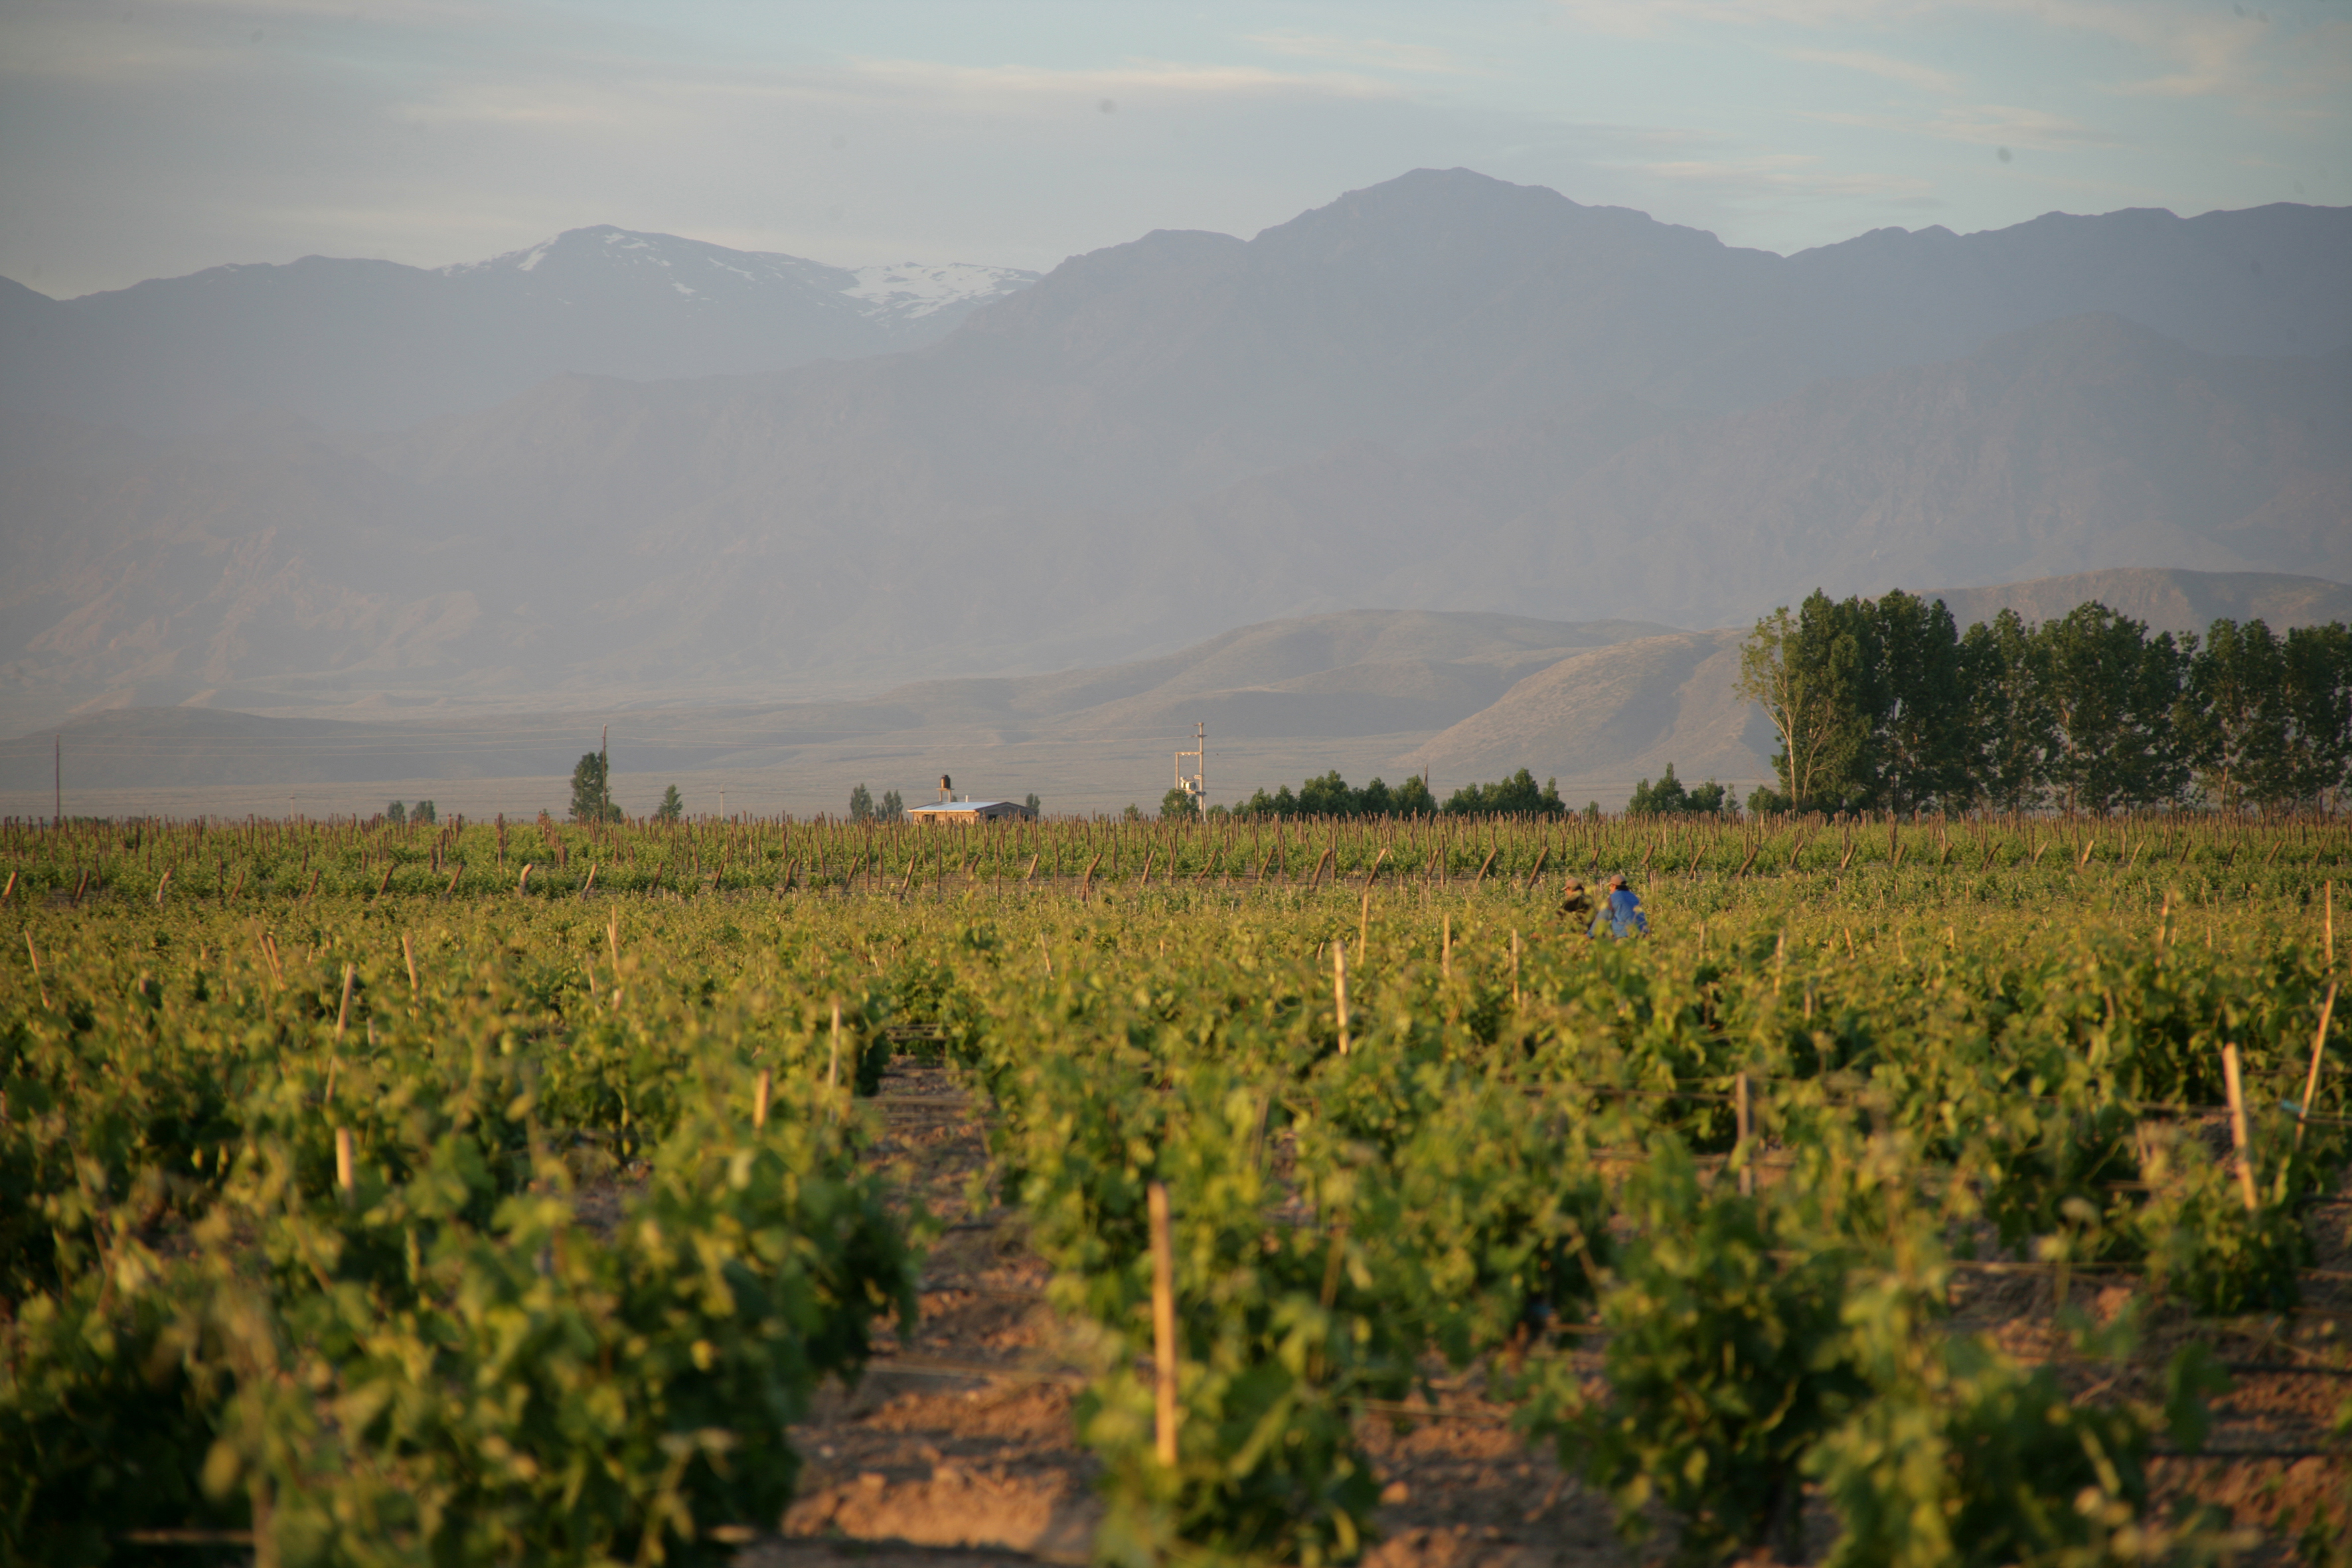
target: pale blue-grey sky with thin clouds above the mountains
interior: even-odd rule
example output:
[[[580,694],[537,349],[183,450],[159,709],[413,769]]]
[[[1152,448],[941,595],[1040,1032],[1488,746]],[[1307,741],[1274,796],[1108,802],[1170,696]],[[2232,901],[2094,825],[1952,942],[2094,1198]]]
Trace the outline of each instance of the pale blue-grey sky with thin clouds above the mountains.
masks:
[[[1795,252],[2352,205],[2352,0],[0,0],[0,275],[1051,268],[1470,167]]]

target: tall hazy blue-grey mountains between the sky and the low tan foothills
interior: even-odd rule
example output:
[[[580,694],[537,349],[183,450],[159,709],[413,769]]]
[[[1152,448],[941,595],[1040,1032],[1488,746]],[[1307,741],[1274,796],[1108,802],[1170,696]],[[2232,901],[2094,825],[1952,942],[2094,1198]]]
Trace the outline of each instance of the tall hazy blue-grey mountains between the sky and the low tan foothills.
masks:
[[[938,280],[929,315],[668,237],[541,252],[390,268],[372,296],[336,289],[388,263],[223,268],[96,296],[153,301],[108,306],[103,353],[9,355],[0,729],[771,705],[1367,604],[1665,635],[1813,585],[2352,578],[2347,209],[2051,214],[1783,259],[1416,172],[1247,242],[1152,233],[1018,292]],[[367,303],[402,289],[428,303]],[[463,289],[489,303],[447,303]],[[52,343],[19,303],[7,341]],[[691,327],[762,310],[767,339]],[[539,348],[468,360],[468,334]],[[835,357],[623,378],[750,371],[788,339]],[[590,348],[614,374],[480,409],[480,364]],[[136,355],[176,369],[120,371]],[[174,409],[207,397],[238,418],[191,433]],[[1644,691],[1712,656],[1653,651]],[[1519,726],[1496,733],[1477,745]]]

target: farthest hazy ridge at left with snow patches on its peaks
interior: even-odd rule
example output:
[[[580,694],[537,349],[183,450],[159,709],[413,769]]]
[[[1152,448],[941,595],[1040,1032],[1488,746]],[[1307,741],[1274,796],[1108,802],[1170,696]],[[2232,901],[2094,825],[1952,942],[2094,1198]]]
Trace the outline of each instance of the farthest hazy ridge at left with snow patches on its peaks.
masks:
[[[771,371],[927,343],[1035,273],[835,268],[677,235],[574,228],[487,261],[303,256],[52,301],[0,289],[0,407],[155,435],[301,414],[390,430],[564,371]]]

